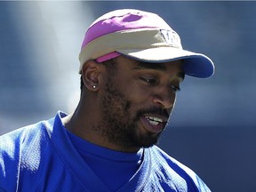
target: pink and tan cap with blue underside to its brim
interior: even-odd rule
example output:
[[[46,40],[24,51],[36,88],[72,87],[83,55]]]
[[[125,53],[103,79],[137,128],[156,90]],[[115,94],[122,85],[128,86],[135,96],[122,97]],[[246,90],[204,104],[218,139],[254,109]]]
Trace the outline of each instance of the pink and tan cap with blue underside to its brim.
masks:
[[[183,50],[180,36],[152,12],[116,10],[95,20],[84,36],[79,72],[87,60],[102,62],[119,55],[152,63],[183,60],[188,76],[205,78],[214,73],[212,60]]]

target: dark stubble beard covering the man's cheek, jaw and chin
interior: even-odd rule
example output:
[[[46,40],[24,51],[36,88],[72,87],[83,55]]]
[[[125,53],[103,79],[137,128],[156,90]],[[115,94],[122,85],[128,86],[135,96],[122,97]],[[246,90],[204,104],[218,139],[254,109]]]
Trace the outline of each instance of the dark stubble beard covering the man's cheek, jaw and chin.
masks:
[[[97,126],[100,135],[120,148],[149,148],[157,143],[160,133],[141,132],[140,116],[146,110],[131,111],[132,101],[119,91],[111,79],[105,86],[101,102],[102,121]]]

